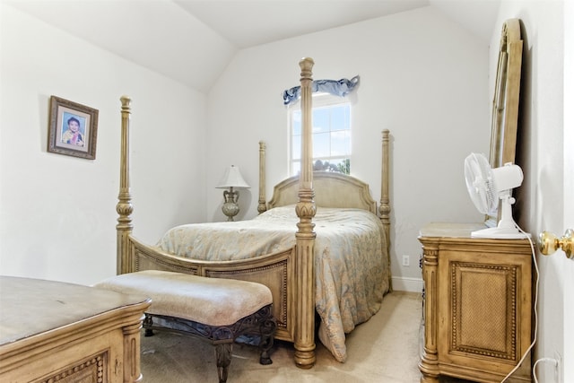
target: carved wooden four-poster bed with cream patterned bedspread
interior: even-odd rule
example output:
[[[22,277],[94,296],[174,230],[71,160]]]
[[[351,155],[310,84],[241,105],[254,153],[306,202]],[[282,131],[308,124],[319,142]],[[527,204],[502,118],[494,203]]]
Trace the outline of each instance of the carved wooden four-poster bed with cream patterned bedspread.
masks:
[[[313,65],[313,60],[310,58],[300,60],[303,132],[300,176],[287,178],[277,184],[274,187],[273,197],[266,202],[265,144],[260,143],[257,206],[260,215],[256,219],[247,222],[206,223],[203,226],[208,231],[202,234],[196,232],[189,234],[187,231],[196,230],[196,226],[201,226],[200,224],[183,225],[185,228],[182,226],[172,229],[154,246],[143,244],[132,235],[133,206],[129,186],[131,100],[126,96],[121,99],[117,273],[150,269],[168,270],[265,284],[273,294],[274,317],[277,320],[275,338],[294,344],[294,359],[300,368],[310,368],[315,363],[316,309],[321,318],[319,337],[322,343],[326,344],[335,359],[344,361],[346,358],[344,333],[374,315],[380,307],[382,296],[392,288],[389,257],[388,131],[383,131],[382,137],[381,200],[378,209],[376,201],[370,195],[369,185],[360,179],[340,173],[313,172],[311,142]],[[296,216],[292,214],[295,221],[291,220],[291,217],[285,218],[284,225],[290,225],[289,239],[292,239],[292,243],[289,242],[287,247],[272,244],[266,246],[265,250],[253,251],[247,256],[234,255],[228,259],[209,258],[211,256],[201,258],[184,254],[185,251],[194,252],[197,248],[204,247],[208,238],[209,240],[220,238],[221,235],[213,234],[214,226],[222,226],[226,231],[236,231],[236,235],[240,229],[239,239],[230,239],[235,240],[236,242],[232,243],[236,245],[228,248],[232,248],[233,251],[235,248],[238,250],[244,248],[243,242],[239,245],[237,241],[247,237],[266,237],[265,233],[248,231],[245,225],[250,222],[260,223],[271,216],[271,220],[275,222],[263,222],[268,226],[267,229],[274,231],[274,224],[278,220],[283,220],[282,214],[286,210],[296,213]],[[321,221],[325,215],[328,216],[326,219],[330,220],[333,214],[336,216],[335,221]],[[355,221],[359,222],[358,229],[352,228]],[[365,229],[367,227],[369,229]],[[239,229],[235,230],[236,228]],[[346,230],[350,231],[347,235],[349,242],[343,244],[331,242],[334,239],[327,239],[328,235],[323,234],[329,231],[329,228],[334,228],[332,237],[336,239],[344,238],[345,235],[339,230],[347,228]],[[248,236],[247,233],[251,235]],[[189,239],[197,235],[196,239]],[[355,238],[354,242],[351,238]],[[175,242],[172,242],[172,239]],[[177,242],[180,239],[189,239],[192,242]],[[370,246],[374,250],[363,250],[363,245]],[[209,246],[212,246],[211,243]],[[344,254],[340,256],[337,251],[345,247]],[[222,254],[221,248],[215,250],[215,253],[216,257],[219,257]],[[346,284],[342,286],[342,283]],[[353,296],[345,296],[345,293],[349,294],[346,291],[351,291]]]

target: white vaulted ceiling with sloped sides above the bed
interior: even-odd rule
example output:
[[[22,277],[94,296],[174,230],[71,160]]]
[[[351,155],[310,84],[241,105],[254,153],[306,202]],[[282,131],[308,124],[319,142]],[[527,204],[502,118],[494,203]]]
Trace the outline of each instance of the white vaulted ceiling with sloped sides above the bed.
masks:
[[[491,38],[500,0],[6,0],[80,39],[198,91],[235,53],[424,6]]]

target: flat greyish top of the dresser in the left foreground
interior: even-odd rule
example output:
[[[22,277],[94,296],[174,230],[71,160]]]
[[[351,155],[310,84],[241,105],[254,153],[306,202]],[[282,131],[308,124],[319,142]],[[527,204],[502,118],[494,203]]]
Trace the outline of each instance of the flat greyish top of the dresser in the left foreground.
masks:
[[[146,297],[73,283],[0,275],[0,345],[114,309],[147,305]]]

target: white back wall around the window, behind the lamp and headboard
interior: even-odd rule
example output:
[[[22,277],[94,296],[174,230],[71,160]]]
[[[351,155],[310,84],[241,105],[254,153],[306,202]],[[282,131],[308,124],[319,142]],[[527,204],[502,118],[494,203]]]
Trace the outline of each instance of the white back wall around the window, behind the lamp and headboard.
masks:
[[[422,225],[483,218],[466,192],[463,164],[490,145],[487,42],[426,7],[240,51],[209,93],[207,133],[207,185],[235,164],[252,186],[241,196],[240,218],[257,214],[259,140],[267,143],[267,199],[287,176],[282,92],[299,84],[301,57],[315,60],[317,80],[361,75],[349,97],[351,172],[369,182],[377,201],[381,131],[390,129],[392,273],[397,289],[420,291]],[[223,220],[221,204],[208,187],[208,219]],[[402,255],[411,256],[410,267]]]

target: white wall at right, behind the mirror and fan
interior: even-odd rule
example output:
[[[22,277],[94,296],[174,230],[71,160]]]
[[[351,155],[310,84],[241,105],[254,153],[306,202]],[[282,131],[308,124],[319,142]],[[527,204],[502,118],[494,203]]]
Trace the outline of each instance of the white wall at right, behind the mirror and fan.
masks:
[[[518,223],[534,237],[540,231],[553,231],[562,235],[565,226],[572,227],[566,204],[571,206],[572,191],[567,187],[565,170],[572,169],[567,165],[572,156],[571,141],[564,125],[564,71],[571,66],[564,66],[564,28],[572,22],[563,16],[564,3],[561,1],[517,1],[502,2],[497,30],[493,32],[492,44],[500,38],[502,22],[509,18],[519,18],[523,24],[524,58],[521,100],[521,139],[517,147],[517,163],[525,172],[525,182],[519,188],[517,204]],[[570,44],[572,43],[570,37]],[[571,65],[571,63],[570,63]],[[570,85],[571,87],[571,85]],[[571,92],[571,89],[570,89]],[[568,107],[570,108],[570,105]],[[571,121],[570,121],[571,131]],[[571,135],[571,133],[570,133]],[[564,140],[564,141],[563,141]],[[571,184],[570,184],[571,185]],[[569,221],[570,220],[570,221]],[[561,355],[561,374],[563,382],[574,381],[572,365],[574,343],[567,341],[565,327],[572,323],[565,309],[571,307],[574,287],[574,262],[558,252],[551,257],[536,257],[540,269],[538,296],[538,336],[534,360],[555,358]],[[570,333],[571,334],[571,333]],[[564,359],[570,356],[570,361]],[[543,362],[536,368],[538,381],[554,382],[554,367]],[[566,375],[568,373],[568,375]]]

